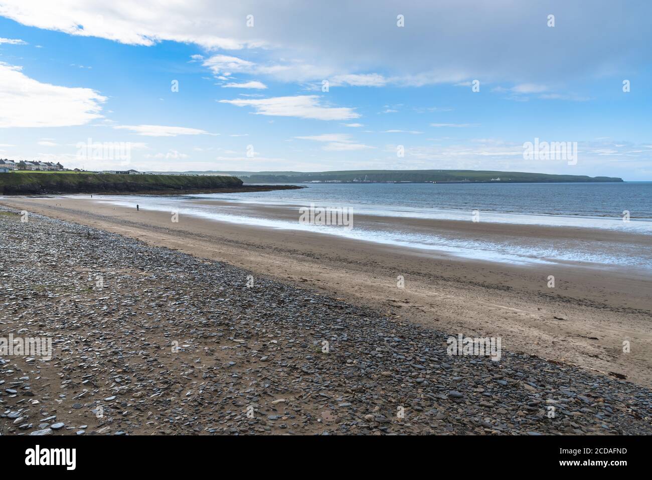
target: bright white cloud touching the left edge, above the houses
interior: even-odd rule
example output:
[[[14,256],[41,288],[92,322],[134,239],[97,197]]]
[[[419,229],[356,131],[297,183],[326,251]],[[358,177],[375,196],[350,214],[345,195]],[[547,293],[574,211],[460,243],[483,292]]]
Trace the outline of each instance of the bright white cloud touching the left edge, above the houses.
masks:
[[[95,90],[41,83],[21,70],[0,62],[0,128],[70,127],[102,117],[106,97]]]

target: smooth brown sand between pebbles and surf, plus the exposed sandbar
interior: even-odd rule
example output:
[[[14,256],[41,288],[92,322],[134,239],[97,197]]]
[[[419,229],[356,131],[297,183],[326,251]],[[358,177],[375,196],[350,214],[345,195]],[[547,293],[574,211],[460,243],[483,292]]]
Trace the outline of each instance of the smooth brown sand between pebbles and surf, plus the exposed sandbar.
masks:
[[[652,386],[652,278],[632,267],[467,260],[295,230],[274,230],[82,198],[2,198],[1,205],[77,222],[372,307],[400,322],[456,335],[501,337],[504,350]],[[146,205],[145,205],[146,207]],[[237,207],[233,207],[237,208]],[[265,215],[282,211],[265,208]],[[357,217],[358,222],[387,222]],[[650,248],[649,235],[447,220],[402,219],[418,232]],[[397,277],[404,277],[398,288]],[[548,288],[548,276],[556,285]],[[623,342],[630,352],[623,352]]]

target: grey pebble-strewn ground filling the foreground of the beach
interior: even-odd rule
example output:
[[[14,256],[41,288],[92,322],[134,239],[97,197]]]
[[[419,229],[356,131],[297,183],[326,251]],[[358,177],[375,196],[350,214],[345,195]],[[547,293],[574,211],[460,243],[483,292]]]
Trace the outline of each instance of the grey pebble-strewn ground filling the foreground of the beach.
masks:
[[[0,213],[18,259],[0,258],[3,332],[54,339],[49,361],[0,363],[3,434],[652,433],[652,391],[634,383],[505,344],[497,361],[451,353],[444,325]]]

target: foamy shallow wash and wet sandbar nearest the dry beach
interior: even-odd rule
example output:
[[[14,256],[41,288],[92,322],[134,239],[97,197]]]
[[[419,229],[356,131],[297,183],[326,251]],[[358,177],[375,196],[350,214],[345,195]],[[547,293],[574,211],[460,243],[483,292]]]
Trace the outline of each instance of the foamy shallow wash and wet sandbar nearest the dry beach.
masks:
[[[574,219],[576,224],[565,225],[563,220],[560,223],[559,220],[551,221],[544,217],[517,218],[518,215],[509,215],[497,218],[484,213],[482,222],[471,222],[470,218],[422,218],[401,216],[400,212],[395,212],[393,216],[355,213],[349,217],[351,228],[344,228],[300,224],[297,222],[297,207],[301,205],[293,203],[248,203],[243,202],[243,196],[235,201],[179,198],[169,203],[165,200],[153,199],[148,202],[143,198],[123,202],[119,198],[94,199],[99,205],[128,208],[140,203],[140,207],[147,211],[175,210],[185,217],[190,215],[273,231],[311,232],[319,238],[338,237],[389,245],[440,258],[467,258],[514,265],[564,263],[602,269],[627,268],[632,275],[634,272],[652,275],[652,223],[649,222],[632,222],[623,230],[619,226],[621,222],[611,219],[580,219],[579,222]],[[361,209],[357,208],[356,211]],[[536,218],[549,223],[536,223]],[[596,221],[602,223],[593,226]]]

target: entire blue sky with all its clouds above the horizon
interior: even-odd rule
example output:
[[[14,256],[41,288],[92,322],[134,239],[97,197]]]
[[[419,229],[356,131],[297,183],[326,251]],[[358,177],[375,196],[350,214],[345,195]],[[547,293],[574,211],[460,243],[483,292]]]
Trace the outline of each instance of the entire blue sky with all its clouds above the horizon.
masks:
[[[647,0],[0,0],[0,158],[652,181],[650,18]],[[524,158],[537,138],[576,162]]]

